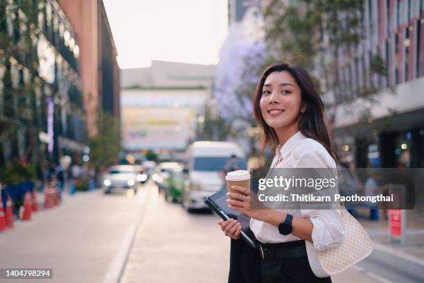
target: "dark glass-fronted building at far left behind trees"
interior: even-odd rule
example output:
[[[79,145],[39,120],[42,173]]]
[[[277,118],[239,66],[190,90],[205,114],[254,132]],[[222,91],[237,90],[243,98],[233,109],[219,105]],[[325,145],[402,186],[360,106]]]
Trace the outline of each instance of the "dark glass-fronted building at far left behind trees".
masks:
[[[0,4],[0,166],[87,151],[80,46],[54,0]]]

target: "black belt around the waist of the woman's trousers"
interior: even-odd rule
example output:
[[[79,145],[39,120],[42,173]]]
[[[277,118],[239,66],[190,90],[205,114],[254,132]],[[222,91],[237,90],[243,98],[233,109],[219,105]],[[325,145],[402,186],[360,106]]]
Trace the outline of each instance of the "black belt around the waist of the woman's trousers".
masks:
[[[294,259],[308,256],[303,240],[286,243],[262,243],[259,252],[262,259]]]

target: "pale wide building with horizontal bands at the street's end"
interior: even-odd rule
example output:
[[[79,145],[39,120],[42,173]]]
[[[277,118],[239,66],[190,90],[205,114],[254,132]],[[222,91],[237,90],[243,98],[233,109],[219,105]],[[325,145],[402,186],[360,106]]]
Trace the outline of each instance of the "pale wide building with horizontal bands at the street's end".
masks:
[[[149,149],[162,160],[182,159],[195,138],[197,112],[211,96],[215,66],[154,60],[121,74],[125,151],[137,160]]]

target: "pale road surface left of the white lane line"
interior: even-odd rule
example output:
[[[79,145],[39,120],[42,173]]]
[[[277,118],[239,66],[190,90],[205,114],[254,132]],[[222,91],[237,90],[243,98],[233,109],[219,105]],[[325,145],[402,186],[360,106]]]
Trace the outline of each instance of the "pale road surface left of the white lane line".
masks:
[[[102,282],[111,268],[119,274],[113,259],[134,233],[142,196],[103,196],[100,190],[68,196],[0,235],[0,266],[53,268],[48,282]]]

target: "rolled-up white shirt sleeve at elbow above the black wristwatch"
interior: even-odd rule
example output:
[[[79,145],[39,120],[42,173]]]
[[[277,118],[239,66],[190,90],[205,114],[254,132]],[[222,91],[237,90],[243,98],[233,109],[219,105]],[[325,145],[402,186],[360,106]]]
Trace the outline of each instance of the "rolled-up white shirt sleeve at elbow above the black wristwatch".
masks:
[[[301,215],[310,218],[312,247],[326,250],[340,246],[344,240],[344,225],[339,209],[302,209]]]

